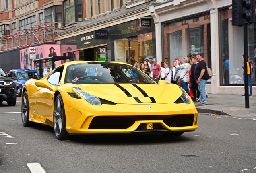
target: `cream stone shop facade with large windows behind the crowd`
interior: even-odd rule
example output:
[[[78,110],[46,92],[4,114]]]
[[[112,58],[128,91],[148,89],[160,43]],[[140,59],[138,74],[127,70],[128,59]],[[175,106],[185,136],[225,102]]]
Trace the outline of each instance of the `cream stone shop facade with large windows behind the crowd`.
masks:
[[[178,0],[151,5],[155,21],[157,60],[167,61],[200,53],[213,72],[208,93],[244,94],[242,55],[243,27],[232,26],[232,1]],[[256,94],[256,25],[248,25],[248,62],[254,64],[253,94]]]

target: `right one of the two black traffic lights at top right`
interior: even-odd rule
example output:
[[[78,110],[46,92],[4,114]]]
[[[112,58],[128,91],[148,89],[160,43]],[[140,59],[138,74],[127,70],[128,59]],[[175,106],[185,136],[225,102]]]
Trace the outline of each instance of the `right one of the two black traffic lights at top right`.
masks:
[[[255,22],[255,0],[242,0],[244,23],[250,24]]]

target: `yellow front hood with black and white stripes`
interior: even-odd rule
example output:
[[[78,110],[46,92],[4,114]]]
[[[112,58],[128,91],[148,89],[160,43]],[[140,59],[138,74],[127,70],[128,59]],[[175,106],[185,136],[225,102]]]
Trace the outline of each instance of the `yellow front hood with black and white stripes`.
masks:
[[[79,85],[90,95],[119,104],[173,103],[182,91],[174,84],[86,84]]]

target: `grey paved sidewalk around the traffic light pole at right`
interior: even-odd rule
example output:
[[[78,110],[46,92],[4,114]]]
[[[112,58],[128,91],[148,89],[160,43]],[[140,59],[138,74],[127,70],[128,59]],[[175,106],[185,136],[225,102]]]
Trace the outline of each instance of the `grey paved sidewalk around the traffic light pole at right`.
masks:
[[[249,108],[245,108],[242,95],[209,94],[207,105],[195,103],[199,113],[216,113],[233,117],[256,118],[256,96],[249,97]]]

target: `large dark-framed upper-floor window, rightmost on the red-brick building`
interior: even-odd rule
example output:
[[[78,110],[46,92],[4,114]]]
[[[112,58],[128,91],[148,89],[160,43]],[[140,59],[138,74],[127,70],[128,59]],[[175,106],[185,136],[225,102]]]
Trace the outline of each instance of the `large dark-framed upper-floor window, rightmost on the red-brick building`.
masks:
[[[64,1],[65,23],[83,21],[82,0]]]

